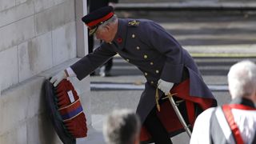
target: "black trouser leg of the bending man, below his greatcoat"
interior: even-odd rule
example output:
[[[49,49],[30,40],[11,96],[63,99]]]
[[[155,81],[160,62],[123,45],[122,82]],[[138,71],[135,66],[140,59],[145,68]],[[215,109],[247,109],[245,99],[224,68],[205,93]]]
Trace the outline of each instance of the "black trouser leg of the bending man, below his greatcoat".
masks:
[[[155,144],[172,144],[165,127],[162,125],[162,122],[160,122],[156,115],[155,107],[146,117],[144,126],[146,126],[146,130],[148,130],[148,132],[151,134]]]

